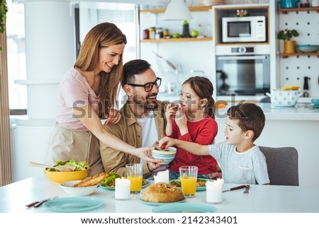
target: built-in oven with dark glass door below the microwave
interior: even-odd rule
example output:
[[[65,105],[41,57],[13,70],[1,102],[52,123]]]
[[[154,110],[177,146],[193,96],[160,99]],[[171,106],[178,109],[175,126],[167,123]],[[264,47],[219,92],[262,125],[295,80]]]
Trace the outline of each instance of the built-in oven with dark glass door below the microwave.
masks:
[[[216,47],[217,95],[270,91],[269,45]]]

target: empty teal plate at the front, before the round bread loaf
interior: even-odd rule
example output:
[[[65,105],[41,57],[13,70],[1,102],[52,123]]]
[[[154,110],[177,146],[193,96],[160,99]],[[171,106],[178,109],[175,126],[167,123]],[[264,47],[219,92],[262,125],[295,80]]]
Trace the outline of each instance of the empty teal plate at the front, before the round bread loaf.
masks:
[[[215,206],[206,204],[166,204],[152,209],[153,213],[214,213]]]

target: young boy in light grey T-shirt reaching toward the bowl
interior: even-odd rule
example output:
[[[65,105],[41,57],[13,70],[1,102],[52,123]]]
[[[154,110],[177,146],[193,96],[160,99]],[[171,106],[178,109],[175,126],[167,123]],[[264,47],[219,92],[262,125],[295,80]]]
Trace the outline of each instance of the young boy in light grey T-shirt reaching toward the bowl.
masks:
[[[264,128],[264,112],[255,104],[244,103],[230,107],[227,115],[224,142],[202,146],[164,137],[159,146],[178,146],[198,156],[213,156],[225,183],[269,185],[266,158],[254,145]]]

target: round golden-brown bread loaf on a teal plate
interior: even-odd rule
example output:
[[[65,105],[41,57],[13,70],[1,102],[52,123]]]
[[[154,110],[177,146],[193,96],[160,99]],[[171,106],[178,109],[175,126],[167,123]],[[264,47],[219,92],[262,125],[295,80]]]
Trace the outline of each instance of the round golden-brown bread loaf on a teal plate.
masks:
[[[177,202],[185,199],[183,192],[177,187],[158,182],[145,188],[142,200],[145,202]]]

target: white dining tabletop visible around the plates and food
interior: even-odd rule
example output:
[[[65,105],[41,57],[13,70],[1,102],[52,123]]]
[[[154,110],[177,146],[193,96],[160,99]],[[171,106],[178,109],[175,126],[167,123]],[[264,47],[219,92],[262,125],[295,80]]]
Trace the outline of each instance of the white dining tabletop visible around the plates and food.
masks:
[[[224,190],[234,186],[237,185],[223,185]],[[212,206],[218,213],[319,212],[319,187],[251,185],[249,194],[243,194],[243,191],[224,192],[224,202]],[[26,209],[26,204],[55,195],[69,197],[60,185],[47,180],[45,175],[30,177],[0,187],[0,212],[51,212],[44,206]],[[140,202],[139,195],[127,201],[114,200],[113,196],[114,191],[98,187],[90,197],[101,198],[105,203],[91,212],[147,213],[155,207]],[[186,199],[185,203],[204,204],[205,198],[206,191],[196,192],[196,197]]]

